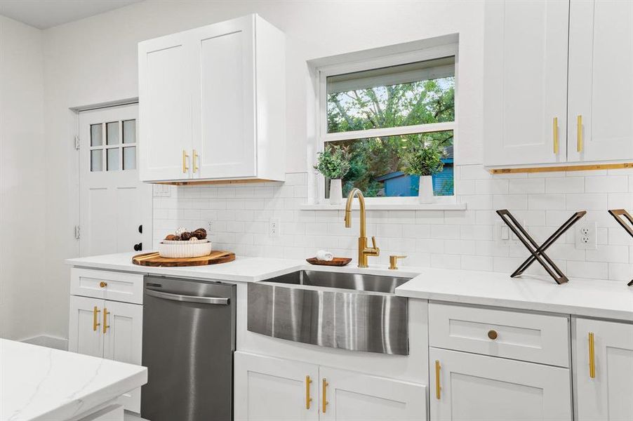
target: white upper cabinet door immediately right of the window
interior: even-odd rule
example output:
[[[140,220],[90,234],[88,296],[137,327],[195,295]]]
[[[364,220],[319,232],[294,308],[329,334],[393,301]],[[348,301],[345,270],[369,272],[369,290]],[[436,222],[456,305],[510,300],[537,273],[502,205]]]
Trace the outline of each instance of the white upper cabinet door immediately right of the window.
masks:
[[[486,1],[486,166],[566,161],[568,9],[568,1]]]

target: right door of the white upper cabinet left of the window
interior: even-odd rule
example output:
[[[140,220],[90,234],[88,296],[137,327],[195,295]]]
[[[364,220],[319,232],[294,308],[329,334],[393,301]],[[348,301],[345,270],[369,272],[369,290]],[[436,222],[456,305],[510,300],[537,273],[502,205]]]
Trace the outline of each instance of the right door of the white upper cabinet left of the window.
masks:
[[[257,173],[254,29],[248,15],[192,31],[194,178]]]

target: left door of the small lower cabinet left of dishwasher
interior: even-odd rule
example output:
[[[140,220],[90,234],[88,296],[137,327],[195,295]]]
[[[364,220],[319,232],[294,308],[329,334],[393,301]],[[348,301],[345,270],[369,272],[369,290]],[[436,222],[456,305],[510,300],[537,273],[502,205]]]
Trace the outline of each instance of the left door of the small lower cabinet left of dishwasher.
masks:
[[[79,354],[103,356],[101,312],[103,300],[70,296],[68,350]]]

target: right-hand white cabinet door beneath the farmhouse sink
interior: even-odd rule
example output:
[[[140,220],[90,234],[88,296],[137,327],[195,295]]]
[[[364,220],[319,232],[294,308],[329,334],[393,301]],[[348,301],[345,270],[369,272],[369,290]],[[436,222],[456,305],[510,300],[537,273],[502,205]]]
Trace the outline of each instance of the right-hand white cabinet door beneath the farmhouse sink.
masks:
[[[410,382],[319,367],[320,420],[426,420],[426,388]]]

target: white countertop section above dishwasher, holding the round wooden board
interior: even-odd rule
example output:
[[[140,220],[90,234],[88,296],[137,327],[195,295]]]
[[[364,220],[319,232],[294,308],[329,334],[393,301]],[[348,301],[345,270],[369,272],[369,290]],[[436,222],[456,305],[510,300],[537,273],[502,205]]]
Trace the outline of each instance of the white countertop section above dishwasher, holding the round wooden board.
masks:
[[[148,252],[149,253],[149,252]],[[196,279],[220,279],[222,281],[255,282],[293,272],[300,269],[305,260],[245,258],[237,256],[234,261],[221,265],[188,267],[150,267],[132,263],[138,253],[117,253],[89,258],[67,259],[66,263],[76,267],[109,269],[142,274],[160,274]]]

